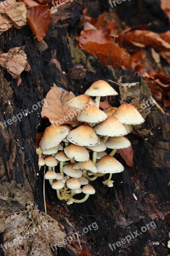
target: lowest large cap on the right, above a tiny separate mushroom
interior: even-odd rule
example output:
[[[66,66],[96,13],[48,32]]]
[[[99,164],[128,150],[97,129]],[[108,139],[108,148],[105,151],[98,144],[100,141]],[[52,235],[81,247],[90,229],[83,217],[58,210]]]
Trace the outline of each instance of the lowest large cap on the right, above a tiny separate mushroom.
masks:
[[[102,157],[96,163],[96,168],[97,172],[99,173],[117,173],[124,170],[122,163],[119,163],[118,160],[116,160],[114,157],[111,157],[110,155]]]

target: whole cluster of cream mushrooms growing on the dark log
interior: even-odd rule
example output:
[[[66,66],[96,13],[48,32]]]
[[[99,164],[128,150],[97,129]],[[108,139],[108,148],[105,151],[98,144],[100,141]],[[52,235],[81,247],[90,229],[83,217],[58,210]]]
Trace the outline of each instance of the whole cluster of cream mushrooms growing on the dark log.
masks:
[[[68,106],[79,110],[79,124],[51,125],[42,135],[37,149],[39,168],[48,166],[44,179],[57,190],[58,199],[67,201],[68,205],[82,203],[95,193],[89,181],[108,174],[102,183],[112,187],[112,175],[124,170],[113,155],[117,149],[130,146],[124,136],[132,131],[132,125],[142,124],[144,119],[130,104],[104,111],[99,109],[101,96],[117,94],[107,82],[94,82],[84,95],[67,102]],[[107,148],[111,149],[110,154],[106,153]],[[59,172],[56,173],[58,163]],[[74,196],[81,192],[84,198],[75,199]]]

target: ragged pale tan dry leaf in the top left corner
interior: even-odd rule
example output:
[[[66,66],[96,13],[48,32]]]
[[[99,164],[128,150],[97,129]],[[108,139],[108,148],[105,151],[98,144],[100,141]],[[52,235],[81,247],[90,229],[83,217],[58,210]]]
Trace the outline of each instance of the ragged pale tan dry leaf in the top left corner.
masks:
[[[16,29],[21,29],[26,25],[27,9],[25,3],[17,3],[16,1],[5,1],[0,5],[0,14],[4,14]]]

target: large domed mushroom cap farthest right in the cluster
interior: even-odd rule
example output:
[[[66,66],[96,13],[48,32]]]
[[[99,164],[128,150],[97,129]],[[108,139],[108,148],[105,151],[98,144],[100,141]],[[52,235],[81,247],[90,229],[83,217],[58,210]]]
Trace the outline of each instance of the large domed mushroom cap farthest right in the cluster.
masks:
[[[140,125],[144,122],[143,117],[131,104],[120,105],[113,116],[116,116],[124,125]]]

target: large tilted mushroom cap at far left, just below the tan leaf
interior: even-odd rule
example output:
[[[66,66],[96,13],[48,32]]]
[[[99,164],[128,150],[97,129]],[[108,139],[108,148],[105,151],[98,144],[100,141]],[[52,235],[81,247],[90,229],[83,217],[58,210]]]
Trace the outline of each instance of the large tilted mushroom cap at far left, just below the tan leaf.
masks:
[[[57,146],[67,136],[68,132],[69,128],[66,125],[50,125],[45,129],[40,140],[42,150]]]

